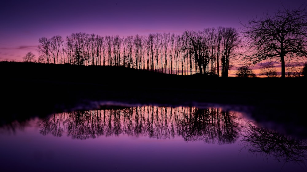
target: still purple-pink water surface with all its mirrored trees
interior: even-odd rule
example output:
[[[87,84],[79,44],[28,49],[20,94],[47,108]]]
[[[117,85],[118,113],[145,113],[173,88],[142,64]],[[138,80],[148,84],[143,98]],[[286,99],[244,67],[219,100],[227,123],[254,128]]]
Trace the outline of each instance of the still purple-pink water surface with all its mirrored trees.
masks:
[[[0,171],[306,171],[307,141],[224,107],[107,106],[0,128]]]

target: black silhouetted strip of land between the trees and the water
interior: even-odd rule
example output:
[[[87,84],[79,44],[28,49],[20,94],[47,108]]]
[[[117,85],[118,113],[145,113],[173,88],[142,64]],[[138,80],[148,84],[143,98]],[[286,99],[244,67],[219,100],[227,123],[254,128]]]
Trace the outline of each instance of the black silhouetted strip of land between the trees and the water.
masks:
[[[91,102],[254,107],[261,118],[288,120],[305,113],[306,78],[180,76],[121,66],[0,62],[1,110],[10,115],[45,115],[103,108]],[[277,110],[277,111],[276,111]],[[3,117],[3,116],[2,116]],[[297,120],[305,125],[303,120]]]

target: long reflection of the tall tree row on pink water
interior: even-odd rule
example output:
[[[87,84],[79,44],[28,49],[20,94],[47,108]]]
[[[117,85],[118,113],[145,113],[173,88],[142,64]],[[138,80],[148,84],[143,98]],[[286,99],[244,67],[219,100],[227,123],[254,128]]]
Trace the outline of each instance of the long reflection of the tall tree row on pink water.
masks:
[[[184,140],[206,143],[234,143],[239,136],[239,118],[219,108],[129,107],[112,110],[88,110],[53,114],[39,121],[43,135],[73,139],[100,136],[148,136],[166,139],[182,136]]]

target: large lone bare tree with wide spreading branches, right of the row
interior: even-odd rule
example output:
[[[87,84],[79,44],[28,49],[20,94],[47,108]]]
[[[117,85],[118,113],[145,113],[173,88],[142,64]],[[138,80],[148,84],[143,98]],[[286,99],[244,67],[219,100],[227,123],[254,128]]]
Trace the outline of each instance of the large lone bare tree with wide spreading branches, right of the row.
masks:
[[[251,19],[248,24],[241,23],[241,32],[251,53],[246,58],[253,64],[267,59],[279,60],[282,78],[285,78],[285,59],[301,58],[307,54],[305,8],[284,8],[283,11],[278,10],[273,17],[266,13],[260,19]]]

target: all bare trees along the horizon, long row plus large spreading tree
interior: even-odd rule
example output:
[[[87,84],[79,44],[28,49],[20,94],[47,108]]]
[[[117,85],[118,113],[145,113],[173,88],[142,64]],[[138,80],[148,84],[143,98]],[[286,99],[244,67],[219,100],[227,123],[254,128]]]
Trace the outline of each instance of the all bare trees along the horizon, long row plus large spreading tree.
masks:
[[[181,35],[164,32],[119,37],[80,32],[72,33],[65,41],[61,36],[42,37],[37,49],[38,62],[123,65],[163,73],[227,77],[234,57],[238,57],[244,63],[239,65],[246,69],[262,61],[279,61],[281,76],[286,77],[286,67],[288,74],[302,69],[299,68],[301,64],[295,67],[286,62],[305,61],[306,20],[306,6],[302,5],[293,10],[278,10],[274,16],[267,13],[259,19],[252,18],[247,24],[241,23],[240,32],[235,28],[218,27],[185,31]],[[262,74],[270,73],[264,71]]]

